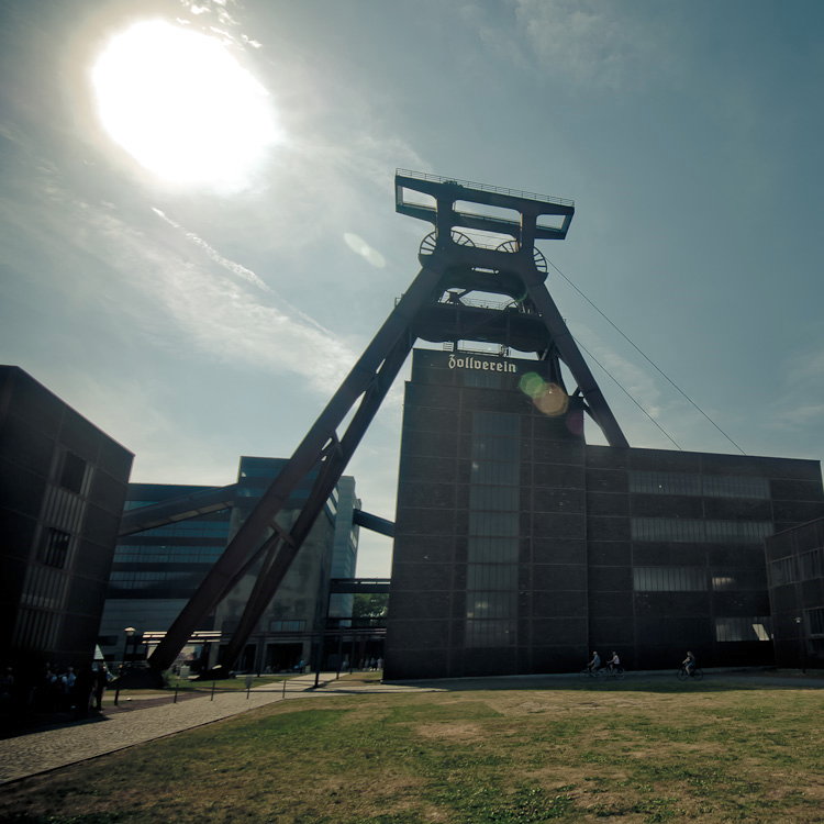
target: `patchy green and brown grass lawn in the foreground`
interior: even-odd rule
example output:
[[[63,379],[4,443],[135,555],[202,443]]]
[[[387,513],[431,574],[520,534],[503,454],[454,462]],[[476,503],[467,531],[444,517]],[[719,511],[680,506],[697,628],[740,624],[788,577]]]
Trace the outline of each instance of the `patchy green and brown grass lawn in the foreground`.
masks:
[[[0,821],[824,821],[824,691],[557,682],[319,695],[4,787]]]

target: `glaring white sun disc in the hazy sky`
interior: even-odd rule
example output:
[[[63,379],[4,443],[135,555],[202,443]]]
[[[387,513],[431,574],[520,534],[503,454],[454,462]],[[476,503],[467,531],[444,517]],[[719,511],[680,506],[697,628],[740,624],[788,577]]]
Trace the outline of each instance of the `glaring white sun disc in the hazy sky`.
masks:
[[[226,46],[163,20],[112,37],[91,83],[109,135],[175,183],[243,189],[281,141],[269,93]]]

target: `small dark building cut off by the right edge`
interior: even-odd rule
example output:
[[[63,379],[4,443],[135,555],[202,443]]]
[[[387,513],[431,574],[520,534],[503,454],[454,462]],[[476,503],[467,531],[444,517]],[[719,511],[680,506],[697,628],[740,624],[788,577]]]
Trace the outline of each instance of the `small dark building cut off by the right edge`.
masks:
[[[767,538],[776,661],[824,667],[824,520]]]

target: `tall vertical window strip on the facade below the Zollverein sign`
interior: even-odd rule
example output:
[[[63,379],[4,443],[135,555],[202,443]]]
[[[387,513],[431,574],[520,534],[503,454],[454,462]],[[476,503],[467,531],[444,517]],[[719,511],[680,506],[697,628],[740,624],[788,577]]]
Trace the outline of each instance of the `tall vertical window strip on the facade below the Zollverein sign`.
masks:
[[[472,414],[467,647],[511,646],[516,639],[520,435],[516,414]]]

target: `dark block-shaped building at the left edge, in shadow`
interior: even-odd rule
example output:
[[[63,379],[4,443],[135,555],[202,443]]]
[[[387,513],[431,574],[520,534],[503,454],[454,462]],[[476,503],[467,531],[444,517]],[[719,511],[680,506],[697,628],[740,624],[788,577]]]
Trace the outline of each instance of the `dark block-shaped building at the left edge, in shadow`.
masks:
[[[0,659],[91,660],[132,458],[0,366]]]

